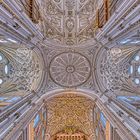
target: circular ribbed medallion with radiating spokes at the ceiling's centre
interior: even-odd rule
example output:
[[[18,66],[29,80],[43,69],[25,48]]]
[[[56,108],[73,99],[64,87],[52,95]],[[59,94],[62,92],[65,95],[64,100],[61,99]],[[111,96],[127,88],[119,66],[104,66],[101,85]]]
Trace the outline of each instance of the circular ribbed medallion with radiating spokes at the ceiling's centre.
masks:
[[[50,63],[50,76],[58,85],[76,87],[90,76],[90,63],[79,53],[62,53]]]

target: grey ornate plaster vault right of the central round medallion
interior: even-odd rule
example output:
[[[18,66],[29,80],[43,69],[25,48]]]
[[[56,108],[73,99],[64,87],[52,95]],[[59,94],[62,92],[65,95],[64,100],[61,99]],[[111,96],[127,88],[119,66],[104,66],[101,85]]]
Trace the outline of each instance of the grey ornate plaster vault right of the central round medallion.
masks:
[[[97,66],[95,75],[98,87],[102,92],[107,90],[108,92],[114,92],[116,95],[139,93],[139,88],[135,88],[136,86],[132,82],[135,78],[134,75],[137,74],[134,74],[132,78],[130,74],[131,61],[137,66],[132,58],[138,51],[137,46],[123,46],[102,49],[99,52],[98,60],[95,64]]]

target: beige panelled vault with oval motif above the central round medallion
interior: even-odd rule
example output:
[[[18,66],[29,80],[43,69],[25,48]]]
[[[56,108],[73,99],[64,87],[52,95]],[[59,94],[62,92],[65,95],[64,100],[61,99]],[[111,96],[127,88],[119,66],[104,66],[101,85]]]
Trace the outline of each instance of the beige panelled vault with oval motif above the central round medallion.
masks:
[[[46,0],[45,35],[64,45],[77,45],[94,37],[94,0]]]

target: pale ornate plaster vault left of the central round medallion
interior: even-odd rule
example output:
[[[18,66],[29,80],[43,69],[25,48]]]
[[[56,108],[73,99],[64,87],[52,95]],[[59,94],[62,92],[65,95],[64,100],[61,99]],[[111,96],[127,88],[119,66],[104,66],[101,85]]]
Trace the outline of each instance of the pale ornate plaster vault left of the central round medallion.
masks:
[[[1,85],[1,95],[25,95],[29,91],[36,90],[42,79],[42,57],[38,50],[28,49],[18,42],[11,42],[2,38],[0,53],[7,60],[7,74]],[[11,39],[12,40],[12,39]],[[14,41],[14,40],[12,40]],[[0,62],[0,68],[3,61]],[[19,93],[18,93],[19,92]],[[21,92],[23,94],[21,94]],[[6,93],[6,94],[5,94]]]

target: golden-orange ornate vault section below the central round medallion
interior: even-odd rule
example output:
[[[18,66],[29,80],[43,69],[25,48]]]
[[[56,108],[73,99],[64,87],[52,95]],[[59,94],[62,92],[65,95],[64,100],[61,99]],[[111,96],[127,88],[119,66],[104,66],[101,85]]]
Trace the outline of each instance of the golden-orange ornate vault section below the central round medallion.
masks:
[[[47,132],[53,136],[73,128],[88,136],[94,134],[93,108],[94,102],[76,94],[64,94],[46,101]]]

